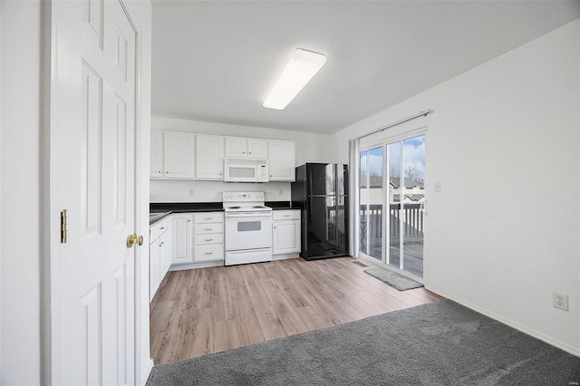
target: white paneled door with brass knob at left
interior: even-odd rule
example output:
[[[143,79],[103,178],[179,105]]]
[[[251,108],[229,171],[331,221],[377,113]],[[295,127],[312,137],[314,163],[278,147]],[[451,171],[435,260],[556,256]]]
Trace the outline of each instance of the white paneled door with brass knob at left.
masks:
[[[53,1],[51,380],[135,376],[135,31],[119,1]],[[68,242],[60,212],[68,209]],[[24,274],[25,275],[25,274]]]

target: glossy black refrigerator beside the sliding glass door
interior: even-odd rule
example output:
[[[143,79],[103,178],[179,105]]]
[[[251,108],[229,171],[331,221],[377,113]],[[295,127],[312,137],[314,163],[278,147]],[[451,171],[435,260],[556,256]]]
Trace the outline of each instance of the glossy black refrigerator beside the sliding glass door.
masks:
[[[348,166],[306,163],[296,168],[292,207],[302,212],[302,251],[305,260],[349,256]]]

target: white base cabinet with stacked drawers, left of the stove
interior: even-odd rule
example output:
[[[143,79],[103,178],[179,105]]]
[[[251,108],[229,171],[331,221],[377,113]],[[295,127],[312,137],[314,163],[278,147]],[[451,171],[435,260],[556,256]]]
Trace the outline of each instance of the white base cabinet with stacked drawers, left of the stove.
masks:
[[[224,212],[193,215],[193,262],[224,259]]]

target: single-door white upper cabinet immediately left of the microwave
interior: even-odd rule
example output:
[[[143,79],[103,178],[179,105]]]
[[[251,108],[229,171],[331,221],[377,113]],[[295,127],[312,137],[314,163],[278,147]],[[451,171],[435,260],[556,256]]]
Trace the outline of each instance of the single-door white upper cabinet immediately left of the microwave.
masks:
[[[197,179],[224,179],[224,137],[199,135],[196,143]]]

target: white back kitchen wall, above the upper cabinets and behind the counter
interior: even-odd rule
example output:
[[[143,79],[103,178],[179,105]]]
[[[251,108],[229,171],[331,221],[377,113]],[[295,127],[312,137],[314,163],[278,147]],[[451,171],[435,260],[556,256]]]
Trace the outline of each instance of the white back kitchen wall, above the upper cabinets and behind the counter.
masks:
[[[296,166],[305,162],[333,162],[333,152],[328,146],[330,136],[300,131],[275,130],[249,126],[187,121],[152,117],[151,130],[194,132],[199,134],[234,137],[264,138],[267,140],[294,140]],[[189,191],[193,189],[194,195]],[[266,201],[288,201],[289,182],[264,184],[226,183],[219,181],[151,180],[151,202],[212,202],[221,201],[224,191],[265,191]]]

